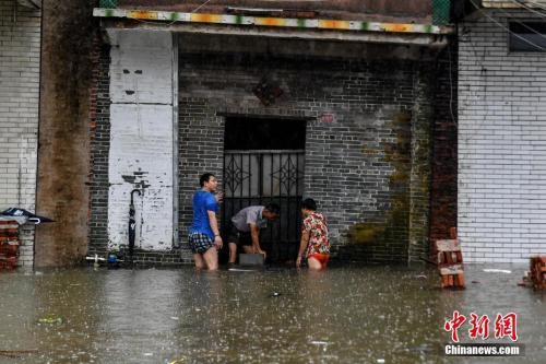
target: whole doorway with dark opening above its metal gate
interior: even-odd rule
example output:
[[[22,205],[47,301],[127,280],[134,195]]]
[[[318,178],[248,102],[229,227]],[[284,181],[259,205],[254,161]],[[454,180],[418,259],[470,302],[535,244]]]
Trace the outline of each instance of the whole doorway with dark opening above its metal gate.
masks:
[[[226,119],[222,230],[225,235],[232,227],[232,216],[246,207],[278,204],[278,221],[260,233],[260,245],[271,263],[297,256],[305,141],[305,120]]]

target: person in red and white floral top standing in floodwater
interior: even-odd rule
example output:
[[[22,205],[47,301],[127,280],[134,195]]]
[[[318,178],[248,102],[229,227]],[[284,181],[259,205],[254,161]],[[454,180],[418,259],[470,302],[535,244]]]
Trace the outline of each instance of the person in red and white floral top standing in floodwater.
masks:
[[[304,224],[296,267],[299,268],[301,260],[307,258],[309,269],[324,269],[330,259],[327,219],[317,212],[317,203],[313,199],[305,199],[301,202],[301,215]]]

